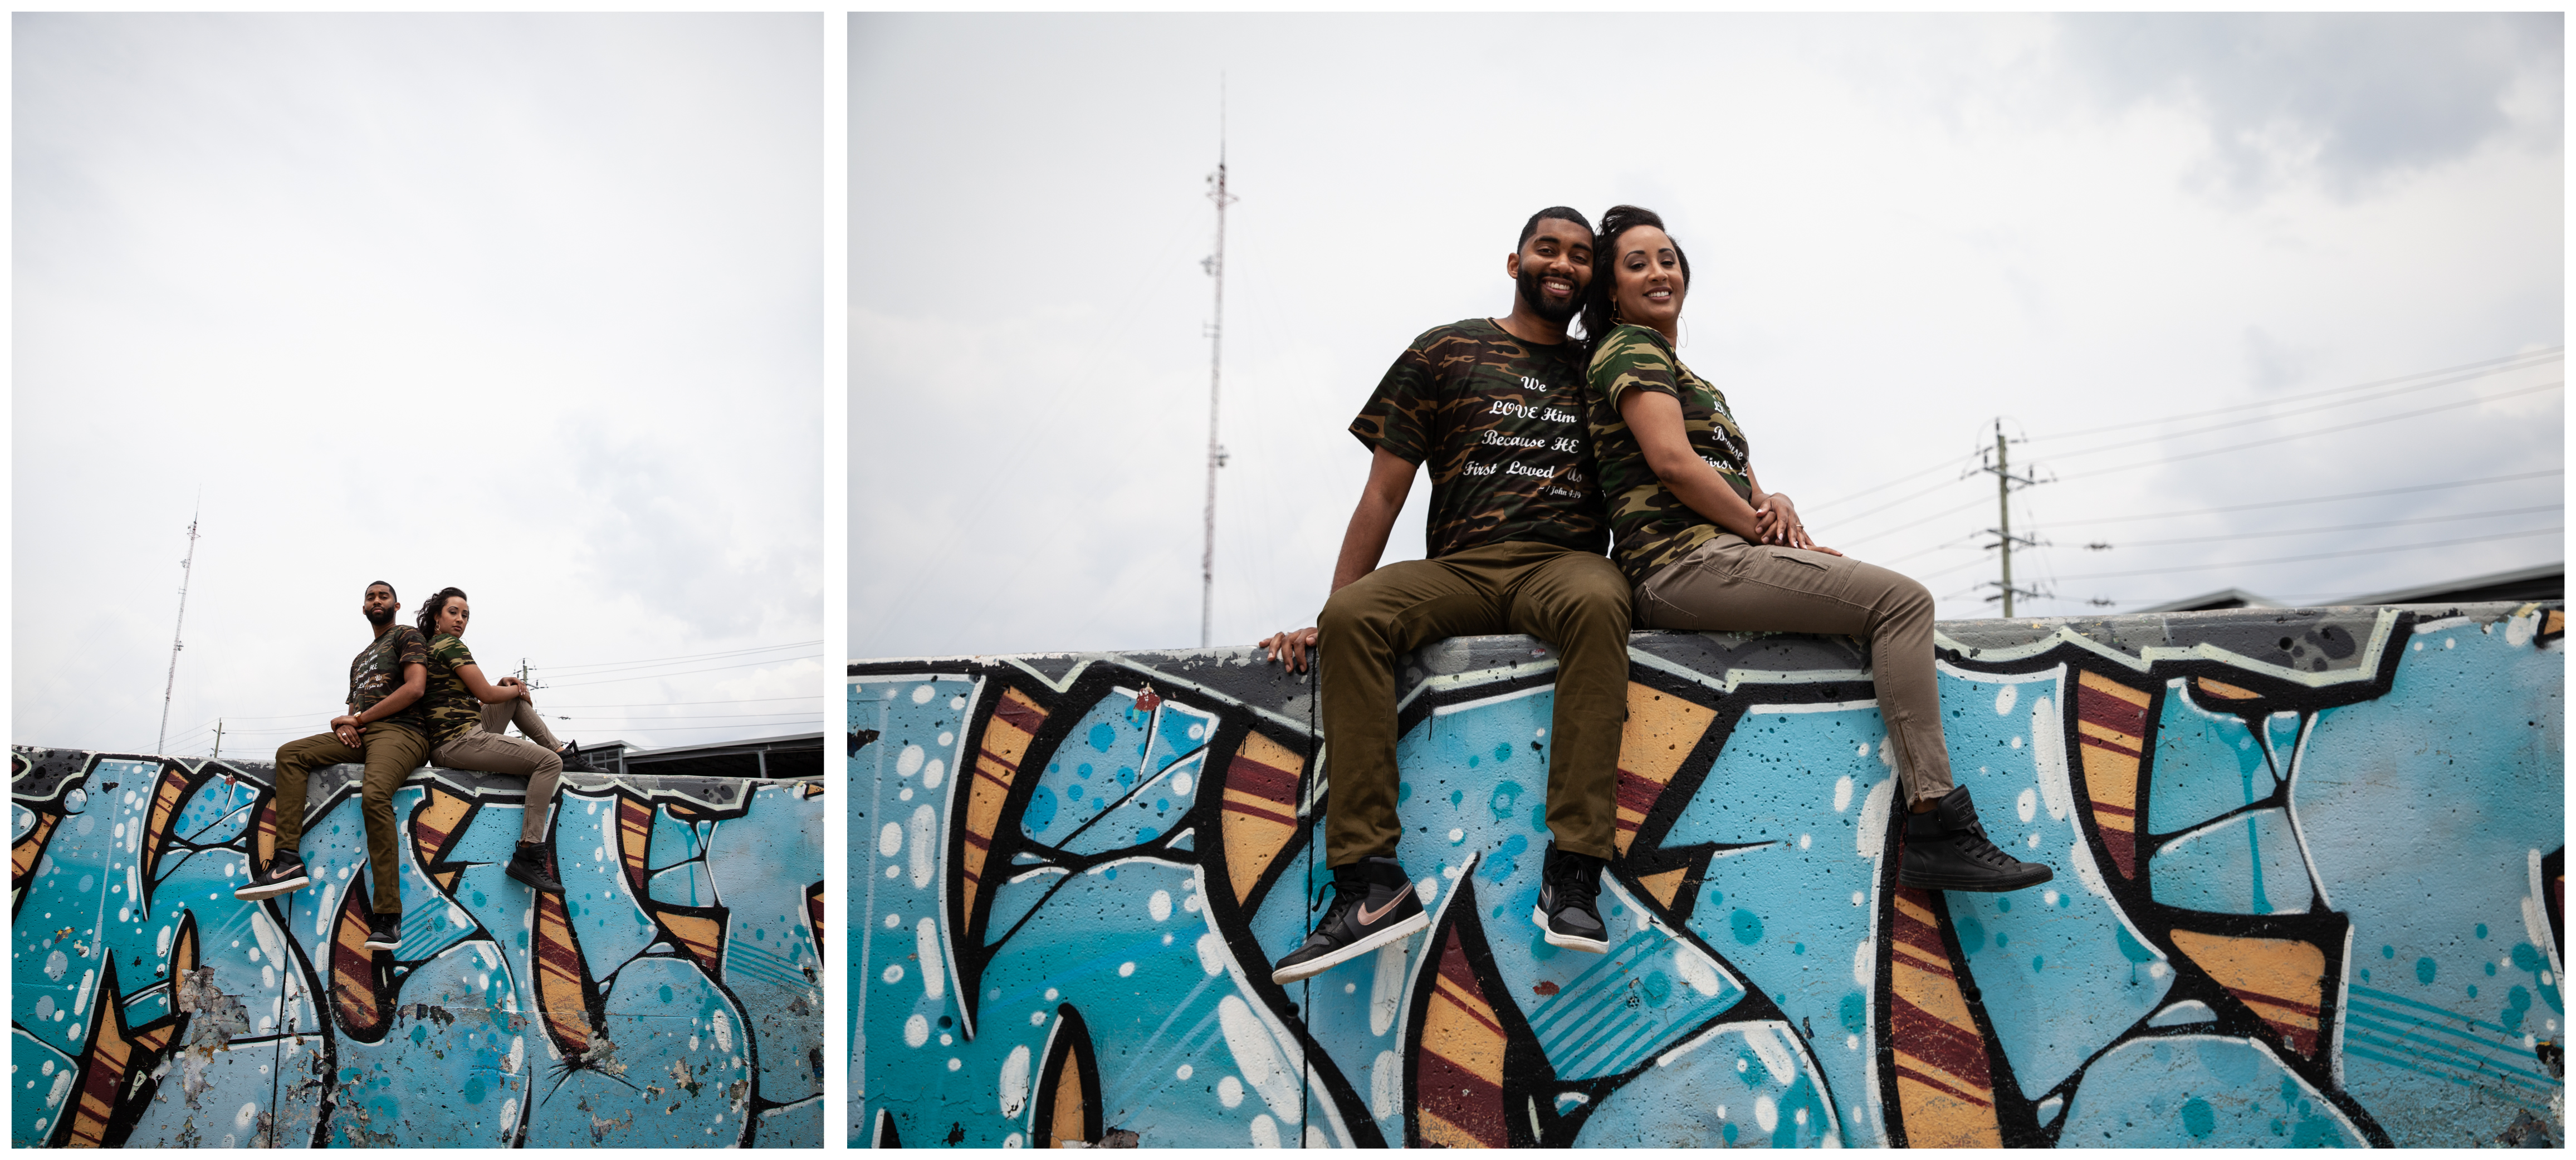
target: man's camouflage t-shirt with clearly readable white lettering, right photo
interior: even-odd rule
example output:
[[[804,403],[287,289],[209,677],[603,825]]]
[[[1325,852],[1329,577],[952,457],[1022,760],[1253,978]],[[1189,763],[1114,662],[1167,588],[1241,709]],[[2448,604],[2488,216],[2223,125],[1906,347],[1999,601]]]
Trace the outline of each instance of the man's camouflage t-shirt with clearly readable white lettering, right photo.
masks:
[[[1504,541],[1610,546],[1582,423],[1582,348],[1471,317],[1425,330],[1378,379],[1350,433],[1432,477],[1425,554]]]

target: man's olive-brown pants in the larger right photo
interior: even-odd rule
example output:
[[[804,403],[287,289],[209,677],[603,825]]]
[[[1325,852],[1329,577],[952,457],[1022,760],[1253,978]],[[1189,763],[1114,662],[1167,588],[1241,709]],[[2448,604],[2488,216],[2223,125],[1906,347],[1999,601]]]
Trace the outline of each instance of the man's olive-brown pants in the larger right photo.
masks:
[[[1628,580],[1553,544],[1486,544],[1352,580],[1316,619],[1332,791],[1324,861],[1396,853],[1396,657],[1443,637],[1522,632],[1556,650],[1548,833],[1595,858],[1610,846],[1620,722],[1628,719]]]

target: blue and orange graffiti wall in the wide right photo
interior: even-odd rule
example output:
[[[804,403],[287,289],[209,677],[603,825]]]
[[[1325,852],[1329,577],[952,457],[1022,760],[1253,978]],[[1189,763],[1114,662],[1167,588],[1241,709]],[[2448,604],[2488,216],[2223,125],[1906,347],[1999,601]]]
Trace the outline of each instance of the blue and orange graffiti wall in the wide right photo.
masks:
[[[1432,925],[1288,987],[1311,683],[850,665],[853,1142],[2563,1139],[2561,608],[1940,629],[1958,781],[2056,882],[1896,884],[1850,639],[1636,634],[1613,946],[1553,949],[1553,657],[1450,639],[1399,681]]]

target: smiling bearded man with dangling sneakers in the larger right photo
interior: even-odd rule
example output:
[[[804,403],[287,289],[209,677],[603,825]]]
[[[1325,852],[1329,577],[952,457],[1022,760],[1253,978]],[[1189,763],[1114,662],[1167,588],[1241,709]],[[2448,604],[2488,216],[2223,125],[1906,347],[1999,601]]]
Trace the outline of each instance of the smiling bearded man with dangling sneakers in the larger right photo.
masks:
[[[1610,521],[1584,441],[1584,351],[1566,340],[1592,281],[1592,224],[1551,206],[1502,263],[1517,286],[1502,320],[1425,330],[1378,382],[1350,433],[1368,485],[1342,534],[1314,629],[1262,639],[1306,668],[1321,644],[1332,748],[1324,851],[1334,905],[1275,982],[1319,974],[1430,925],[1396,861],[1394,662],[1425,642],[1520,632],[1556,650],[1548,727],[1548,856],[1530,915],[1556,946],[1602,954],[1595,910],[1610,846],[1620,722],[1628,717],[1628,580],[1602,554]],[[1427,467],[1427,559],[1378,567],[1414,467]]]

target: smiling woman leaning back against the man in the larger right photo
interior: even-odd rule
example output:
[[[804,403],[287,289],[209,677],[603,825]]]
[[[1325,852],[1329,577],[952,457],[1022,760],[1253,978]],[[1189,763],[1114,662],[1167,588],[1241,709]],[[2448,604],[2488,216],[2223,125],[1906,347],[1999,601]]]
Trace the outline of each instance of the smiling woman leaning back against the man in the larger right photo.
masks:
[[[1762,490],[1726,397],[1674,356],[1687,291],[1690,258],[1664,219],[1613,206],[1584,291],[1584,418],[1636,619],[1649,629],[1868,637],[1878,711],[1911,804],[1896,882],[1989,892],[2048,882],[2048,866],[1986,840],[1968,789],[1950,784],[1932,593],[1816,544],[1788,495]]]

